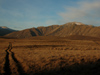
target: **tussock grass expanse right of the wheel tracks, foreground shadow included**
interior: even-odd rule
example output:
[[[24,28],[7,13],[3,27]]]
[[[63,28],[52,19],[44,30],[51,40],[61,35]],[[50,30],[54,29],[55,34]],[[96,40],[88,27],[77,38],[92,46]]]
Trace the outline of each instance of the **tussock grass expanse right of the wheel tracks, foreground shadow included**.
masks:
[[[94,68],[99,65],[97,64],[100,59],[99,49],[99,45],[91,40],[65,40],[63,42],[32,40],[16,41],[13,43],[12,51],[23,67],[27,67],[25,68],[27,74],[70,75],[76,73],[84,75],[92,74],[91,66]]]

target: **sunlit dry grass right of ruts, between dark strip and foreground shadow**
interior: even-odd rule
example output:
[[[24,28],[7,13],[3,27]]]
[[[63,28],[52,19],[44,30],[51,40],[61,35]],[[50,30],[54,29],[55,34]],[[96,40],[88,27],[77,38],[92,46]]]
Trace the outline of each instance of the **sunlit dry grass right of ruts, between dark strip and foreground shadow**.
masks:
[[[27,64],[27,72],[59,70],[75,63],[85,64],[100,59],[99,50],[29,50],[13,49],[22,64]],[[20,52],[19,52],[20,51]],[[24,52],[24,53],[23,53]]]

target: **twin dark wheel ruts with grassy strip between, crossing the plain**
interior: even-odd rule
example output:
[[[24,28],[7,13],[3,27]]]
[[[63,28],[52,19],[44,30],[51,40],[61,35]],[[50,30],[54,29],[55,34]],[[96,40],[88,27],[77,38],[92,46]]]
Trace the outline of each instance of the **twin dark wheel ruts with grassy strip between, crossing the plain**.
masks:
[[[12,43],[9,43],[8,49],[6,51],[4,75],[25,75],[24,70],[20,62],[16,59],[14,52],[12,50]],[[12,62],[13,61],[13,62]],[[12,63],[14,63],[12,65]]]

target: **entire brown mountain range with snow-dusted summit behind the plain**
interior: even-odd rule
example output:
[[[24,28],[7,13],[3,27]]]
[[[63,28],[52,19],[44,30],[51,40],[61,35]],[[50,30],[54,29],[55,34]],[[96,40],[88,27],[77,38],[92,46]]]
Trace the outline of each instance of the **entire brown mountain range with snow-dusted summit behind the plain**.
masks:
[[[5,36],[16,38],[28,38],[33,36],[66,37],[71,35],[100,37],[100,27],[94,27],[92,25],[86,25],[80,22],[69,22],[63,25],[52,25],[48,27],[25,29],[22,31],[12,32]]]

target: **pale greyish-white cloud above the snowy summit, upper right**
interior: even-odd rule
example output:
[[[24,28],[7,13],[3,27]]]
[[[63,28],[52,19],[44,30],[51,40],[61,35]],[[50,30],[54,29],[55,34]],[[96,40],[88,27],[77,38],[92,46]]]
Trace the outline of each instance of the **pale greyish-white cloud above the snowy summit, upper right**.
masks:
[[[78,21],[100,25],[100,0],[88,0],[75,3],[76,7],[65,7],[65,12],[58,13],[64,22]]]

